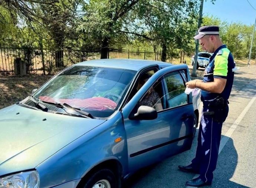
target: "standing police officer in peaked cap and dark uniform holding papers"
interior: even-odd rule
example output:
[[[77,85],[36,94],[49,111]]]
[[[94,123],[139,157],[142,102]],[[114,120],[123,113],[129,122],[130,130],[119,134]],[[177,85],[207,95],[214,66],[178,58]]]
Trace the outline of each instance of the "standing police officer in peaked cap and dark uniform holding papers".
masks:
[[[186,185],[201,187],[210,185],[216,168],[220,146],[222,123],[229,112],[228,99],[233,85],[234,59],[219,37],[219,27],[204,26],[198,30],[199,44],[203,50],[213,53],[204,71],[203,81],[196,79],[186,83],[188,88],[200,88],[203,102],[202,117],[198,133],[196,157],[190,165],[178,168],[200,174],[187,181]]]

